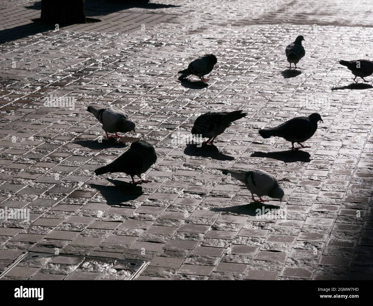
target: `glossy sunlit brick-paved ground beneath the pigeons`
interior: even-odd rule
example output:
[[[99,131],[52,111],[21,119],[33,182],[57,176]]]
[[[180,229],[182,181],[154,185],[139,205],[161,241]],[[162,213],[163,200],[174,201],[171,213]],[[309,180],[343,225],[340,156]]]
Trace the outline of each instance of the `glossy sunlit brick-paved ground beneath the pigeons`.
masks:
[[[4,1],[0,13],[26,2]],[[353,12],[342,1],[257,2],[159,0],[177,6],[126,7],[173,14],[141,31],[123,34],[119,18],[120,33],[68,27],[1,44],[0,206],[31,217],[0,220],[0,271],[23,251],[69,255],[20,263],[3,279],[122,278],[99,257],[150,262],[142,280],[373,279],[372,87],[351,86],[336,64],[370,57],[372,1],[348,1]],[[284,49],[298,34],[306,56],[296,74]],[[210,82],[180,83],[177,71],[203,53],[218,58]],[[43,107],[50,94],[76,97],[75,109]],[[129,136],[156,146],[152,183],[94,175],[128,146],[98,142],[90,103],[125,110],[137,123]],[[215,148],[172,143],[201,113],[235,109],[249,115]],[[257,134],[315,111],[324,122],[310,149]],[[257,218],[243,184],[217,170],[229,167],[275,174],[285,202],[266,205],[287,219]],[[83,269],[88,255],[97,260]]]

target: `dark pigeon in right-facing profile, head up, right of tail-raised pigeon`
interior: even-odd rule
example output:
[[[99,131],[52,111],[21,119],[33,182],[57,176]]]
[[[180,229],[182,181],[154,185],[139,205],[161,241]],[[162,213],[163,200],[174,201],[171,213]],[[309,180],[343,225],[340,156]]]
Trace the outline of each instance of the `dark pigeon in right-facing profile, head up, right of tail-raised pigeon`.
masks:
[[[292,147],[290,149],[292,150],[310,148],[309,146],[303,146],[301,143],[315,134],[319,121],[323,122],[321,116],[318,113],[313,113],[308,117],[290,119],[274,128],[260,129],[259,134],[263,138],[270,138],[271,136],[285,138],[285,140],[291,141]],[[294,143],[300,144],[300,147],[295,148]]]

